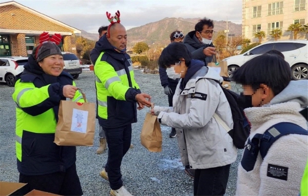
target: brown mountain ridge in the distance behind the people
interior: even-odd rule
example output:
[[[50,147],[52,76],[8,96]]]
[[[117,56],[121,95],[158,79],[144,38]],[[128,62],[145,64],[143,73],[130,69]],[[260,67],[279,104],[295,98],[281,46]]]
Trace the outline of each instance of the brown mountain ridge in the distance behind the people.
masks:
[[[128,47],[132,47],[137,42],[145,42],[149,46],[152,44],[166,45],[170,43],[169,35],[175,30],[181,30],[185,35],[195,29],[196,23],[201,18],[164,18],[160,21],[148,23],[140,27],[134,27],[127,30],[128,35]],[[226,29],[226,23],[224,21],[214,21],[214,30],[216,32]],[[229,34],[235,34],[235,36],[241,36],[242,25],[238,25],[232,22],[228,22]],[[98,39],[98,33],[88,33],[81,31],[83,37],[89,40]],[[215,38],[215,37],[214,37]]]

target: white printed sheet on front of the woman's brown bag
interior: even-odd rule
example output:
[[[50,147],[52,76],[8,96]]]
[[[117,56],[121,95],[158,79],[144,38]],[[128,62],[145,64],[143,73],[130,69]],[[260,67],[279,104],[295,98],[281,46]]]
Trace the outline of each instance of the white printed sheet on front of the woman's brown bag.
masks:
[[[88,113],[88,111],[73,109],[71,131],[87,132]]]

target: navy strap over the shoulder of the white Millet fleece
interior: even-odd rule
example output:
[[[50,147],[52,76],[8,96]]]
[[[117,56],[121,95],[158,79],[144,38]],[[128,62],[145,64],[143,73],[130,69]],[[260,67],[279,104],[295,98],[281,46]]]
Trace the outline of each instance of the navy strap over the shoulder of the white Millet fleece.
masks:
[[[269,127],[264,134],[257,133],[254,138],[260,140],[259,149],[262,159],[264,159],[268,149],[276,140],[288,134],[308,135],[308,131],[294,123],[282,122]]]

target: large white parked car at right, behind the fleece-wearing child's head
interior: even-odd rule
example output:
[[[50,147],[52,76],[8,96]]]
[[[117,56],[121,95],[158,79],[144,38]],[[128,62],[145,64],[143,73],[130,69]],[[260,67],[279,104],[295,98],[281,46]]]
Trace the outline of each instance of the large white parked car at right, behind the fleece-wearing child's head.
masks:
[[[306,40],[283,40],[260,44],[243,54],[225,58],[228,64],[228,74],[242,66],[251,58],[263,54],[269,50],[278,50],[284,55],[284,60],[292,69],[292,79],[307,79],[308,41]]]

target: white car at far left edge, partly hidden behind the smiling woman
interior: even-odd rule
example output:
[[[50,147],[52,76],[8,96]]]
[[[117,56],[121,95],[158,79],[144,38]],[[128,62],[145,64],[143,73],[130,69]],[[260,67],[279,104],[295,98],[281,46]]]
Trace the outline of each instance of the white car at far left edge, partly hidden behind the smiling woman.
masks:
[[[24,71],[24,65],[28,62],[28,57],[6,56],[0,57],[0,82],[14,86],[16,75]]]

